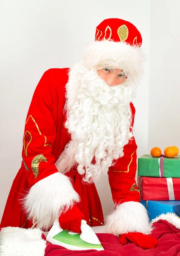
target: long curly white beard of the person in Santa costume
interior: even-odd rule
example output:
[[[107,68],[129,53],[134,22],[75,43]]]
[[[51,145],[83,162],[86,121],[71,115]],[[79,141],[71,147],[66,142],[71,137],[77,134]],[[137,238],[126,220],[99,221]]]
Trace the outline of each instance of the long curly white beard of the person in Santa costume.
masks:
[[[59,156],[56,167],[66,173],[74,165],[83,180],[93,182],[107,173],[113,160],[124,155],[132,137],[130,102],[136,86],[128,83],[109,86],[96,69],[76,64],[66,85],[67,121],[70,143]]]

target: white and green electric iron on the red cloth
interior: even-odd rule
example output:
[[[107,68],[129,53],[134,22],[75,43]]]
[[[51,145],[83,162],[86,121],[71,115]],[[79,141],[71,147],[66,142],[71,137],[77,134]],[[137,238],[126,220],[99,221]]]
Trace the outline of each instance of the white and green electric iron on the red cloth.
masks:
[[[63,230],[57,220],[54,221],[46,240],[51,244],[57,244],[69,250],[104,250],[98,237],[84,220],[81,221],[81,231],[82,233],[79,234]]]

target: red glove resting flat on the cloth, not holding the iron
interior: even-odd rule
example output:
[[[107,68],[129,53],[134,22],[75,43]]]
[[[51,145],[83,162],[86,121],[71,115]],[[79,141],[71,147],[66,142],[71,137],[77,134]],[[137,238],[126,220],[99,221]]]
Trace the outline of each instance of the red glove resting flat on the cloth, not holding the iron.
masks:
[[[122,245],[127,244],[127,239],[132,243],[138,245],[139,247],[143,248],[144,250],[155,248],[158,245],[157,239],[155,239],[152,236],[144,235],[143,233],[139,233],[139,232],[122,234],[120,236],[120,243]]]

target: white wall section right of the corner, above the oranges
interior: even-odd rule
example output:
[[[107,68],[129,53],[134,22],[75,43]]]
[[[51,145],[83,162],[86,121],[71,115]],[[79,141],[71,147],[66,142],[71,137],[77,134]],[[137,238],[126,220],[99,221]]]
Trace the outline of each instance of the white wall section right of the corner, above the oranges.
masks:
[[[148,150],[180,148],[180,1],[151,1]]]

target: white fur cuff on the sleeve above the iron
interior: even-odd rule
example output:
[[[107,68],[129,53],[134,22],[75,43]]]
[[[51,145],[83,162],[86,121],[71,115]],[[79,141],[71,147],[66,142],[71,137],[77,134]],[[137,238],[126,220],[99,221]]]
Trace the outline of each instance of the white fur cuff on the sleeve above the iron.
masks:
[[[79,195],[73,189],[69,178],[56,172],[38,181],[23,199],[23,206],[29,218],[37,221],[37,227],[48,230],[62,211],[66,211]]]

